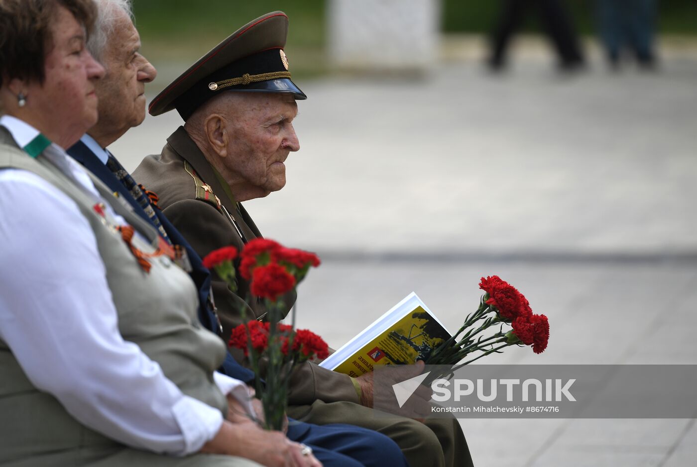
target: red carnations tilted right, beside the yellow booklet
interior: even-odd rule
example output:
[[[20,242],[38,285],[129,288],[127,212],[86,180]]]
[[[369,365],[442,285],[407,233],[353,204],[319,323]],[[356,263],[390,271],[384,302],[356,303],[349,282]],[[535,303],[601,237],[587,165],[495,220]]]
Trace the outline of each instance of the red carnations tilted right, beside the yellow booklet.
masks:
[[[452,338],[431,352],[427,365],[456,365],[474,357],[460,363],[461,367],[510,345],[530,345],[535,354],[546,349],[549,321],[545,315],[533,313],[521,292],[498,276],[482,277],[480,289],[485,293],[479,308],[468,315]],[[493,326],[498,331],[487,333]],[[510,331],[505,326],[511,326]]]

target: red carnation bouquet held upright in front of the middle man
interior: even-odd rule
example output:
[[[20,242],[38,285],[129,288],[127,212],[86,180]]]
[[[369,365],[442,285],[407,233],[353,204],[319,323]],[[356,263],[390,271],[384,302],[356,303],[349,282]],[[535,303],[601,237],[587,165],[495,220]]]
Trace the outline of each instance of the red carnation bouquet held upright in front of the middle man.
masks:
[[[204,266],[215,269],[233,292],[236,290],[233,260],[237,250],[232,246],[206,255]],[[282,297],[294,290],[305,278],[310,267],[319,266],[314,253],[286,248],[273,240],[253,239],[240,252],[240,276],[250,280],[250,297],[264,300],[266,322],[252,319],[232,330],[229,345],[243,349],[256,375],[256,397],[261,399],[266,429],[282,429],[288,405],[288,382],[293,367],[311,358],[327,358],[326,342],[307,329],[281,324],[286,307]],[[245,310],[242,310],[244,317]],[[261,381],[259,363],[266,361],[266,373]]]

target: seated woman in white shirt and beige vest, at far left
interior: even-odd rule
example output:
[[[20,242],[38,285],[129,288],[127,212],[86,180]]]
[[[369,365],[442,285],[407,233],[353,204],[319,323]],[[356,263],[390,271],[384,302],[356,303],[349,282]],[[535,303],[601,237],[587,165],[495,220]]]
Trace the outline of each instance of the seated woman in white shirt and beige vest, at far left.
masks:
[[[249,393],[214,373],[224,344],[192,281],[63,150],[97,121],[94,15],[0,0],[0,464],[317,466],[224,420],[228,401],[252,413]]]

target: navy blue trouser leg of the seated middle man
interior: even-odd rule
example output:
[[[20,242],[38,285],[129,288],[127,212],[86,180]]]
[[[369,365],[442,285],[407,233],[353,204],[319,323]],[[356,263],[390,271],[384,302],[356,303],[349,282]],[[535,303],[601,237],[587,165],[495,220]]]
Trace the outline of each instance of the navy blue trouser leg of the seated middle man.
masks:
[[[397,444],[372,429],[291,420],[288,438],[309,445],[325,467],[409,467]]]

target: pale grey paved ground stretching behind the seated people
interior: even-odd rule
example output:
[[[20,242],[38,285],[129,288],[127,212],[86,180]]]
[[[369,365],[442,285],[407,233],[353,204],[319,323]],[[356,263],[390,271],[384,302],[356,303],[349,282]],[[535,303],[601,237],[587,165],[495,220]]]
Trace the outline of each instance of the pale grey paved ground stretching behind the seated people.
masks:
[[[684,54],[649,74],[595,59],[559,77],[530,54],[503,77],[449,61],[424,79],[299,83],[288,185],[247,207],[268,237],[322,253],[298,323],[334,347],[412,290],[457,328],[499,274],[551,340],[487,363],[697,364],[696,84]],[[112,150],[133,168],[179,122],[148,118]],[[697,459],[694,418],[462,425],[477,466]]]

